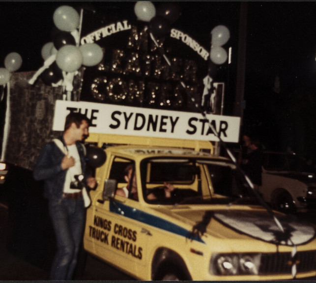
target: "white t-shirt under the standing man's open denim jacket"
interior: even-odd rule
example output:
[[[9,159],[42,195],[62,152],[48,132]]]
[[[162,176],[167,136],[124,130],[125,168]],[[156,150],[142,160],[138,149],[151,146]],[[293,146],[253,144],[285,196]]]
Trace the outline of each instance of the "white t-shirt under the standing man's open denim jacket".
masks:
[[[80,156],[79,156],[76,144],[68,145],[67,148],[68,148],[69,156],[72,156],[75,159],[75,166],[70,167],[67,170],[63,192],[68,193],[68,194],[78,193],[81,190],[70,189],[70,183],[73,181],[76,181],[75,175],[82,174]]]

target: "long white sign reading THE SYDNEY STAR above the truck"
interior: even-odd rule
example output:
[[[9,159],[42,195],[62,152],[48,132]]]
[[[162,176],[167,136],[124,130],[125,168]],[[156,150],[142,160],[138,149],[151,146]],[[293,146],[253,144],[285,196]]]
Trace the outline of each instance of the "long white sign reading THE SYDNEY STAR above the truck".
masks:
[[[240,117],[206,115],[92,102],[56,101],[53,130],[63,131],[70,112],[86,114],[90,133],[217,142],[213,125],[224,142],[238,142]]]

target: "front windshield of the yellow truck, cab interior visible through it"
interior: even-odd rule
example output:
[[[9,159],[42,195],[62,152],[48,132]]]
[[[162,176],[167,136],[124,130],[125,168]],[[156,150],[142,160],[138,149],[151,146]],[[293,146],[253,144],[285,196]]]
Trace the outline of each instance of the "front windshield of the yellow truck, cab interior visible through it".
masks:
[[[254,204],[234,164],[212,159],[150,158],[141,163],[144,199],[156,204]]]

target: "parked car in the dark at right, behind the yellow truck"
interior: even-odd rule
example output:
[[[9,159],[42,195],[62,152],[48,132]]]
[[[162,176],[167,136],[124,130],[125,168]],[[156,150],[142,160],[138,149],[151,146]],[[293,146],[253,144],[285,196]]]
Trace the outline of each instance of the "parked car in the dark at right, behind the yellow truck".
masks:
[[[294,213],[316,204],[315,169],[294,153],[263,152],[262,198],[273,209]]]

